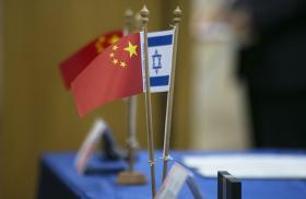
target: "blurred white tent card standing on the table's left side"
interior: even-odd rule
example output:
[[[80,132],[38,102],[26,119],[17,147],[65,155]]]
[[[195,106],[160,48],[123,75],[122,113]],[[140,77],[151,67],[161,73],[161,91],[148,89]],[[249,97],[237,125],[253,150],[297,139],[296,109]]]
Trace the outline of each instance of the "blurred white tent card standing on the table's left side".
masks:
[[[76,171],[80,174],[84,173],[87,161],[93,154],[95,147],[106,128],[106,122],[103,119],[97,119],[90,132],[87,133],[84,142],[82,143],[80,150],[76,153],[74,163]]]

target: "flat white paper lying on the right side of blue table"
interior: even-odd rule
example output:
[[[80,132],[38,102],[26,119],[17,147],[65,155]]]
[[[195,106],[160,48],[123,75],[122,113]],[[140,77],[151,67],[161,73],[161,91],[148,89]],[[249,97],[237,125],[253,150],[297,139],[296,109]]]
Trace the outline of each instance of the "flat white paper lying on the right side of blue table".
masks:
[[[189,155],[183,163],[207,177],[227,171],[238,178],[306,178],[306,155]]]

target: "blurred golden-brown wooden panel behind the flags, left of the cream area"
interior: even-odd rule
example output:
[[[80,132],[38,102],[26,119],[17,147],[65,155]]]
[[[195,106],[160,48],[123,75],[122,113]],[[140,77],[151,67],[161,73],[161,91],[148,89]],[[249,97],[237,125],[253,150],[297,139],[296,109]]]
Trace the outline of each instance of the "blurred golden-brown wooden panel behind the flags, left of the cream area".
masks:
[[[163,26],[162,0],[148,0],[150,30]],[[76,115],[72,97],[58,73],[59,62],[108,30],[123,25],[128,5],[140,1],[5,0],[4,110],[1,150],[3,198],[34,198],[38,156],[47,151],[76,150],[96,116],[107,120],[119,143],[126,139],[126,105],[118,101]],[[143,96],[140,96],[139,140],[146,148]],[[161,147],[164,98],[153,97],[155,143]]]

